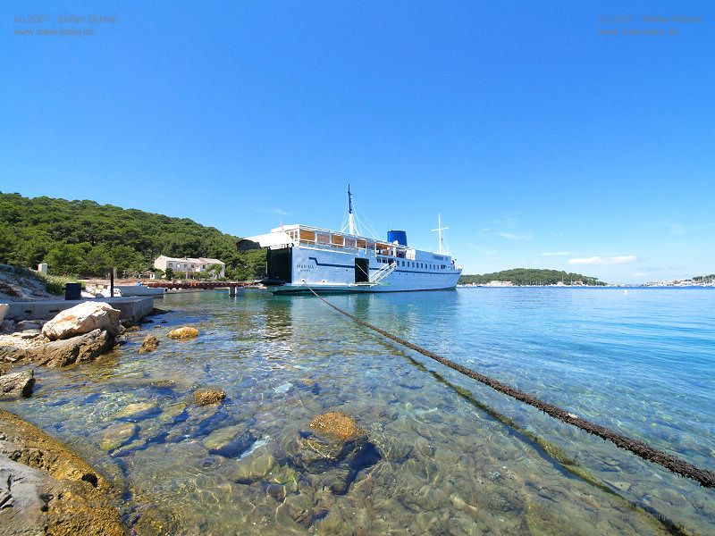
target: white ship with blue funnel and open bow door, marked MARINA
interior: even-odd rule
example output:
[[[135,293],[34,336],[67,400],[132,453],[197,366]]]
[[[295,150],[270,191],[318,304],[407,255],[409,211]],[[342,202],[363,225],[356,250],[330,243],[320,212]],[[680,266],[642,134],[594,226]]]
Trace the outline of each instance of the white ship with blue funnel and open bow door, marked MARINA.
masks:
[[[385,241],[363,236],[348,188],[348,224],[343,230],[281,225],[242,239],[237,247],[267,248],[264,282],[274,294],[454,289],[462,267],[444,250],[445,229],[438,219],[438,253],[409,247],[404,230],[388,231]]]

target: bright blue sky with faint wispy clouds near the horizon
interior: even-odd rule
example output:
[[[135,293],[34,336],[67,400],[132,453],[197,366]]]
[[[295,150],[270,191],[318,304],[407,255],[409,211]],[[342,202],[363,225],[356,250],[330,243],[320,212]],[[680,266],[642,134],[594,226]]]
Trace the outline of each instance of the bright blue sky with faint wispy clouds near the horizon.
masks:
[[[2,191],[247,236],[339,226],[349,182],[467,273],[715,272],[711,2],[61,4],[0,7]]]

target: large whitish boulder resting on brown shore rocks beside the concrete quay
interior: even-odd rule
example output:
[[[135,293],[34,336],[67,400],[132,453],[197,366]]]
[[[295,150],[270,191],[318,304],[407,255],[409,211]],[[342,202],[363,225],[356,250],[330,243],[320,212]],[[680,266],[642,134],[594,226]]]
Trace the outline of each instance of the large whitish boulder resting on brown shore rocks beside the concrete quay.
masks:
[[[112,337],[119,335],[122,324],[120,311],[105,302],[87,301],[60,312],[42,327],[47,339],[69,339],[90,331],[107,331]]]

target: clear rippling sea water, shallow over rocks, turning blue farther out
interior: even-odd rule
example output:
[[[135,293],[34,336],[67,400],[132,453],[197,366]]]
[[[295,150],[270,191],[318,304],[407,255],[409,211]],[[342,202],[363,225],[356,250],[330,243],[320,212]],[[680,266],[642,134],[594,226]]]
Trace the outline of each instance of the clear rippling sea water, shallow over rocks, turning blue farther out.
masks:
[[[403,338],[715,470],[715,292],[458,289],[329,297]],[[125,490],[139,533],[715,532],[715,492],[358,329],[313,297],[172,295],[101,361],[38,371],[7,408]],[[198,339],[162,337],[192,324]],[[141,339],[162,343],[139,356]],[[426,367],[426,370],[425,370]],[[192,392],[218,386],[221,406]],[[154,405],[116,415],[129,404]],[[183,406],[186,405],[186,406]],[[326,411],[355,415],[369,456],[294,463]],[[129,424],[128,424],[129,423]],[[117,425],[134,423],[107,450]],[[237,427],[233,451],[212,432]],[[232,430],[232,429],[231,429]],[[247,460],[274,464],[237,482]],[[263,458],[261,458],[263,456]]]

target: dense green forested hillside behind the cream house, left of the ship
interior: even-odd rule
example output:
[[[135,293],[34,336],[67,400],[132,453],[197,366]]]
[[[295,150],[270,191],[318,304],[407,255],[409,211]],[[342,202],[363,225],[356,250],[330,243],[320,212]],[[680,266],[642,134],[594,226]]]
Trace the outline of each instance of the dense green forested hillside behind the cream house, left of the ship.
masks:
[[[257,278],[265,272],[265,252],[237,252],[237,240],[187,218],[0,192],[0,263],[37,268],[44,262],[54,275],[104,276],[115,267],[134,277],[153,270],[158,255],[169,255],[217,258],[229,279]]]

